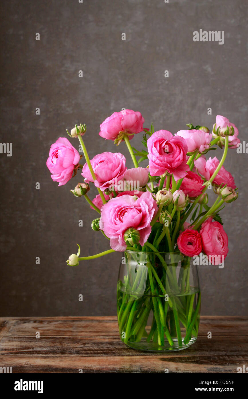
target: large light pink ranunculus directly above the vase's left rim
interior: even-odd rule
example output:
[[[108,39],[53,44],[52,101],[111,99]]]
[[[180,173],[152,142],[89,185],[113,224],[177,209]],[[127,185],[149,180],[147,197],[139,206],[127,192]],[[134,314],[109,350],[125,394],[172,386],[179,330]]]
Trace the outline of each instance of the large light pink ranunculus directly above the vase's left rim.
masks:
[[[127,248],[124,233],[129,227],[139,231],[139,243],[143,246],[150,235],[150,222],[157,209],[150,192],[144,192],[138,199],[130,195],[112,198],[102,206],[100,229],[110,238],[110,246],[115,251]]]

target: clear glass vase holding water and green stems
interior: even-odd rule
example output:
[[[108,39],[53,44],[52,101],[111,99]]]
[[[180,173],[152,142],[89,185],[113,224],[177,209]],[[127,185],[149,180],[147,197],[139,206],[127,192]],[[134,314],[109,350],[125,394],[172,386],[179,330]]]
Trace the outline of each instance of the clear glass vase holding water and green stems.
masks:
[[[143,351],[192,345],[200,321],[198,268],[180,253],[125,251],[117,284],[119,334]]]

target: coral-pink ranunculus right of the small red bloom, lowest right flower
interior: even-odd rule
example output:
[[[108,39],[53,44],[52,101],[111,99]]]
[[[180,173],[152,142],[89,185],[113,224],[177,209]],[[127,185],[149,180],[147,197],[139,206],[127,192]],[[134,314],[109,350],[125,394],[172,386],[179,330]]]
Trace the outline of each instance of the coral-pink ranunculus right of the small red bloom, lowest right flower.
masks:
[[[201,225],[200,236],[209,261],[213,265],[222,263],[228,253],[228,237],[221,223],[207,219]],[[220,257],[223,258],[220,260]]]

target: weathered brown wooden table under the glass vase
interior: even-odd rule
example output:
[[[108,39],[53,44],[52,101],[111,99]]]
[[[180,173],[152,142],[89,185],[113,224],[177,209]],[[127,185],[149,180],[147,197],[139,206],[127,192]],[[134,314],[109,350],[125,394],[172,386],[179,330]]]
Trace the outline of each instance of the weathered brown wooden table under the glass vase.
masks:
[[[195,344],[154,354],[125,346],[115,316],[7,317],[0,318],[0,366],[13,373],[237,373],[248,366],[247,335],[248,318],[202,316]]]

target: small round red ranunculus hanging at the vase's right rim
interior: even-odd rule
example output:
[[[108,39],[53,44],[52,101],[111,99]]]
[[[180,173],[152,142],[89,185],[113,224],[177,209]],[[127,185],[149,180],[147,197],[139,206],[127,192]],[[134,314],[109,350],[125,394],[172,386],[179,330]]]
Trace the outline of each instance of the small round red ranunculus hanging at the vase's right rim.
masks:
[[[197,230],[186,229],[180,233],[177,239],[178,249],[184,255],[199,255],[202,250],[201,236]]]

